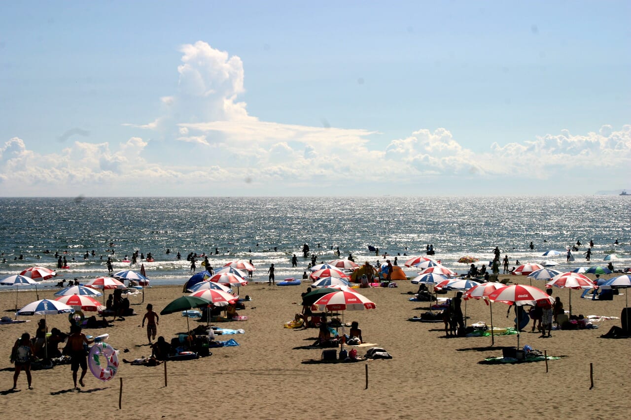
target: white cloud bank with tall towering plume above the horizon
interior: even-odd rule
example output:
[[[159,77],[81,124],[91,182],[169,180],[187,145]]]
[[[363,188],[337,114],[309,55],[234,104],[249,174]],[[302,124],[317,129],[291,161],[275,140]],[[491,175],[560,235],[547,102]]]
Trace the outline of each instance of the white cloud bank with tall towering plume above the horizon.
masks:
[[[590,184],[595,175],[628,183],[631,125],[492,143],[483,153],[449,127],[419,128],[380,149],[374,131],[261,121],[241,100],[240,57],[203,41],[180,51],[179,89],[160,98],[162,114],[121,122],[151,139],[75,139],[42,155],[13,137],[0,145],[0,195],[564,194],[577,183],[591,194],[602,189]]]

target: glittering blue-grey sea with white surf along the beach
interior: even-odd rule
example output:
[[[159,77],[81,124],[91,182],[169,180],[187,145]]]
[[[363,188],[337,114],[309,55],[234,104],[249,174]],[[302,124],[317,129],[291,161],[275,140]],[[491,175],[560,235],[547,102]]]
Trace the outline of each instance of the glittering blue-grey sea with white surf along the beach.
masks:
[[[318,262],[336,259],[337,247],[341,257],[351,253],[360,264],[384,262],[369,251],[370,245],[391,260],[396,257],[401,266],[411,256],[425,255],[431,244],[433,258],[457,272],[467,269],[459,257],[492,260],[497,246],[511,266],[516,260],[552,260],[565,271],[587,265],[582,253],[593,240],[591,265],[606,265],[603,258],[615,253],[616,269],[631,266],[631,199],[618,195],[0,198],[0,214],[0,279],[33,265],[56,269],[58,252],[69,262],[69,269],[58,274],[84,282],[107,275],[108,256],[114,258],[114,271],[129,269],[122,260],[139,250],[155,258],[141,261],[152,285],[184,284],[192,275],[186,260],[191,252],[209,254],[213,267],[251,259],[257,268],[254,281],[267,281],[266,271],[274,264],[280,281],[300,278],[307,270],[304,243]],[[577,240],[582,245],[573,263],[565,262],[565,254],[542,255],[551,249],[565,253]],[[175,258],[177,252],[182,259]],[[292,254],[298,256],[298,267],[292,268]],[[139,264],[131,269],[138,270]],[[406,272],[413,276],[418,271]],[[44,283],[57,281],[59,277]]]

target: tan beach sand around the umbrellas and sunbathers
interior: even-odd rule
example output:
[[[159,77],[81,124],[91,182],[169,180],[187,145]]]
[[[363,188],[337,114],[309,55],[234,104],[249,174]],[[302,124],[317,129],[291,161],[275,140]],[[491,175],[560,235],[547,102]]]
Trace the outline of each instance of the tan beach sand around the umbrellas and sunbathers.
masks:
[[[508,276],[528,284],[526,277]],[[501,277],[500,277],[501,278]],[[543,282],[536,284],[543,288]],[[295,349],[312,342],[317,330],[284,329],[300,310],[300,293],[306,286],[273,287],[266,283],[242,288],[254,300],[240,313],[246,322],[218,324],[245,329],[229,335],[239,347],[212,349],[213,356],[192,361],[168,362],[168,387],[163,366],[121,365],[110,382],[100,382],[88,370],[86,387],[73,390],[70,366],[33,371],[34,390],[28,390],[24,373],[19,392],[11,388],[13,367],[9,353],[23,332],[35,334],[39,317],[32,322],[0,325],[0,412],[3,418],[59,419],[98,417],[117,419],[251,417],[268,419],[623,419],[631,413],[628,396],[631,340],[601,339],[620,320],[599,323],[599,329],[553,331],[553,337],[521,334],[520,344],[546,350],[551,356],[567,356],[545,363],[480,365],[489,356],[501,356],[490,347],[490,337],[445,339],[441,324],[410,322],[425,312],[427,303],[409,301],[416,286],[406,281],[399,288],[361,289],[377,303],[376,310],[346,312],[345,321],[357,320],[363,338],[385,347],[391,360],[360,363],[305,364],[320,358],[318,349]],[[40,298],[53,298],[54,289],[40,291]],[[626,291],[623,290],[622,293]],[[567,289],[555,289],[565,307]],[[573,313],[620,317],[624,296],[613,301],[580,299],[572,291]],[[132,298],[138,313],[116,322],[109,329],[85,329],[86,334],[109,332],[109,343],[129,349],[119,358],[148,356],[146,333],[140,324],[144,305],[153,303],[157,312],[181,295],[181,286],[162,286],[147,291],[145,303]],[[450,294],[451,295],[451,294]],[[20,304],[35,300],[35,292],[21,292]],[[15,305],[14,293],[0,294],[0,309]],[[493,305],[495,326],[507,327],[514,315],[505,317],[507,305]],[[3,312],[3,315],[12,315]],[[469,301],[469,323],[489,322],[489,308],[482,301]],[[49,329],[69,329],[66,315],[48,317]],[[192,322],[196,325],[196,322]],[[158,335],[170,339],[186,329],[179,314],[160,317]],[[529,329],[528,329],[529,330]],[[218,337],[218,339],[224,339]],[[516,335],[495,337],[495,346],[516,345]],[[360,349],[363,354],[365,349]],[[589,390],[589,363],[594,364],[594,388]],[[365,389],[365,365],[369,388]],[[119,410],[119,378],[123,380],[122,409]]]

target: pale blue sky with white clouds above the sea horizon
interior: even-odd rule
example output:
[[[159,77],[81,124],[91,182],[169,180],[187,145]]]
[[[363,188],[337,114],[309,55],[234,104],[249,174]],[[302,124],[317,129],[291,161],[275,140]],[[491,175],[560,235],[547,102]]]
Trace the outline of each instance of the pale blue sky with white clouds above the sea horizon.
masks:
[[[631,190],[628,1],[0,2],[0,196]]]

